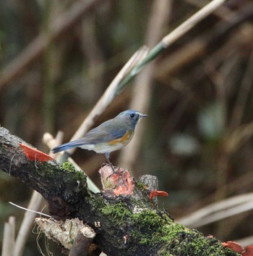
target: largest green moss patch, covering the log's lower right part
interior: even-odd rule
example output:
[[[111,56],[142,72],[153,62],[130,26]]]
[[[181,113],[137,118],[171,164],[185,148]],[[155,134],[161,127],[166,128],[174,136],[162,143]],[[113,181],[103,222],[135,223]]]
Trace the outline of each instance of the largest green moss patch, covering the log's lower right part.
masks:
[[[111,218],[117,226],[122,228],[127,225],[132,226],[131,239],[137,244],[147,247],[161,247],[157,255],[238,255],[224,248],[217,239],[205,237],[194,229],[173,223],[173,220],[166,213],[142,208],[133,213],[124,202],[106,205],[101,212],[107,218]]]

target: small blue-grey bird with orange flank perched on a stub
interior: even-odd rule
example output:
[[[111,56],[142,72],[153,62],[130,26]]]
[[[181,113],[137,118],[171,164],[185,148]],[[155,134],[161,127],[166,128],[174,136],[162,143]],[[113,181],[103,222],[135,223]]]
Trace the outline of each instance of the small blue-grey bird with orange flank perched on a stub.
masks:
[[[134,136],[134,129],[142,117],[147,117],[147,115],[141,114],[137,110],[125,110],[113,119],[107,120],[88,131],[81,139],[54,147],[52,152],[55,154],[74,147],[80,147],[81,149],[93,150],[96,153],[104,154],[111,165],[109,160],[110,153],[129,144]]]

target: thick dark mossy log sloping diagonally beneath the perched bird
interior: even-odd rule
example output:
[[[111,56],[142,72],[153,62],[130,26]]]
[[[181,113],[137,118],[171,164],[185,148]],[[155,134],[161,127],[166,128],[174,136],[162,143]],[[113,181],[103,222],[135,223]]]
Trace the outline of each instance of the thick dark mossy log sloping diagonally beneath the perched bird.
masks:
[[[94,242],[108,256],[114,255],[238,255],[220,241],[205,237],[157,210],[142,183],[134,194],[93,194],[81,171],[62,168],[56,161],[30,161],[20,149],[24,141],[0,128],[0,170],[20,178],[48,201],[55,218],[80,218],[96,232]]]

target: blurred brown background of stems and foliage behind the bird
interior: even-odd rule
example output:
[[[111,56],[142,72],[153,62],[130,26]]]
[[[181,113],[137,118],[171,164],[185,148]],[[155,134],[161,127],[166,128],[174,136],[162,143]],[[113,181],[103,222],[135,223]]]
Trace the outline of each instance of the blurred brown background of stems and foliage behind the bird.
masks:
[[[0,124],[43,152],[43,133],[60,130],[69,141],[140,46],[152,48],[210,1],[94,1],[79,15],[84,2],[0,1]],[[175,219],[252,192],[252,18],[251,0],[227,1],[145,67],[94,125],[130,107],[149,115],[111,161],[135,178],[158,176],[169,193],[160,207]],[[100,187],[103,156],[77,149],[72,157]],[[25,207],[31,193],[0,172],[0,241],[9,215],[17,230],[24,215],[8,202]],[[252,238],[252,213],[198,229],[223,241]],[[34,233],[25,255],[38,255]],[[61,255],[55,244],[49,250]]]

